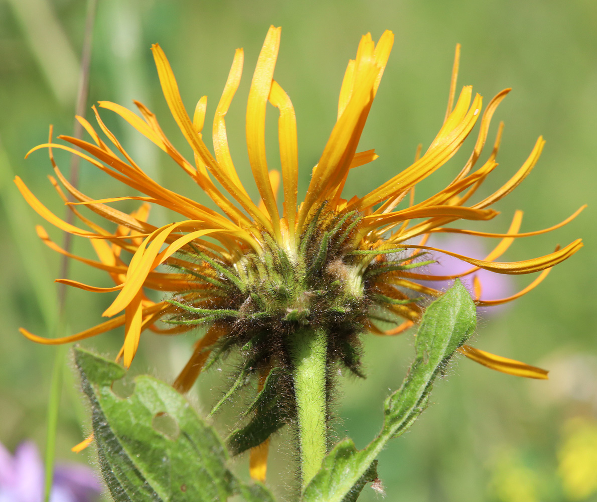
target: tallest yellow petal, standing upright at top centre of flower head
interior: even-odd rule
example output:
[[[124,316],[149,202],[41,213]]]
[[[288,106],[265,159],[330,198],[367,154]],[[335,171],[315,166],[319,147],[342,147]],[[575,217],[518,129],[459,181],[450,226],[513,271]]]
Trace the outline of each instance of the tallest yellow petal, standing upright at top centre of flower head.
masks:
[[[273,71],[278,59],[282,29],[270,26],[257,59],[247,101],[247,151],[257,189],[272,219],[276,236],[281,241],[278,206],[269,183],[265,148],[265,114],[272,88]]]

